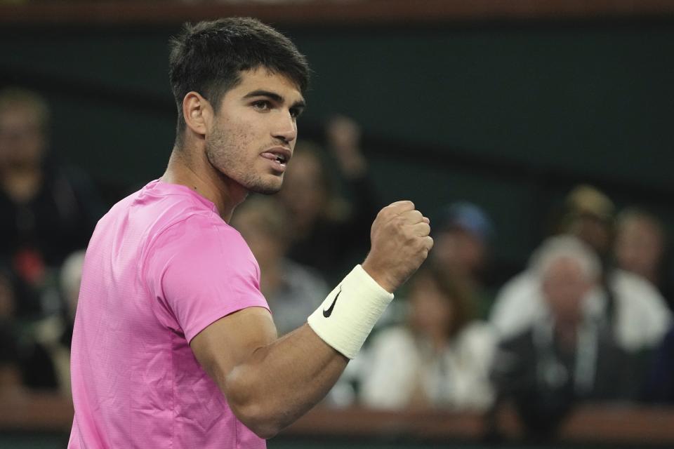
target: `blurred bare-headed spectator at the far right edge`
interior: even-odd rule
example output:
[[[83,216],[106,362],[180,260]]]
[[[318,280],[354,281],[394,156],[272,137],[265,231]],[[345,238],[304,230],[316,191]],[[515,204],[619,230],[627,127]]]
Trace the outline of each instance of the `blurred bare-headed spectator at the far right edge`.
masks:
[[[614,256],[619,268],[650,281],[674,307],[671,280],[663,268],[667,238],[662,222],[645,210],[628,208],[617,219]]]

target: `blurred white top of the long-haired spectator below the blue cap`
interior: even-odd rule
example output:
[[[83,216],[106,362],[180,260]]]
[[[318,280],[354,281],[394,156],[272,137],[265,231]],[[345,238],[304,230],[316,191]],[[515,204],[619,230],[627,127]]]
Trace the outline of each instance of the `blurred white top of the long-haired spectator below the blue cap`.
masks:
[[[442,351],[407,327],[382,330],[365,353],[362,403],[404,410],[421,400],[424,406],[447,410],[485,410],[494,396],[489,366],[495,349],[491,327],[477,321]]]

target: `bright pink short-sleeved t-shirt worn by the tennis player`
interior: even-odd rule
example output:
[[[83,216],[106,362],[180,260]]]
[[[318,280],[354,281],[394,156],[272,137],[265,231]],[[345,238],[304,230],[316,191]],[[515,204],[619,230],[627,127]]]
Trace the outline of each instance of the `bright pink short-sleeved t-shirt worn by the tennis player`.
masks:
[[[117,203],[86,250],[68,448],[265,448],[190,349],[245,307],[268,308],[260,269],[211,201],[153,181]]]

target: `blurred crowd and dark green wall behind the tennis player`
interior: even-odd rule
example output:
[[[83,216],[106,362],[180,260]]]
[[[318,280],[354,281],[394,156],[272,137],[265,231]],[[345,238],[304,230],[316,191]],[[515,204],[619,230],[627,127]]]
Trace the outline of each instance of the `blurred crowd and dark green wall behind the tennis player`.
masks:
[[[674,406],[674,3],[59,3],[0,1],[0,398],[70,397],[88,237],[171,151],[169,36],[256,15],[315,71],[284,189],[231,223],[279,334],[382,206],[435,239],[322,407],[472,413],[494,441],[508,408],[544,442],[586,404]]]

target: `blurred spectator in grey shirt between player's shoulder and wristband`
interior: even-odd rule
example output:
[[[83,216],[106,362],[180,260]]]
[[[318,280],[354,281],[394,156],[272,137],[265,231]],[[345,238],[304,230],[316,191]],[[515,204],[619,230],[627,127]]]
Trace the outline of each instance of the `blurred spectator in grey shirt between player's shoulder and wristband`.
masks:
[[[329,293],[312,269],[289,260],[289,218],[275,199],[256,196],[232,217],[260,265],[260,290],[269,303],[279,335],[302,326]]]

